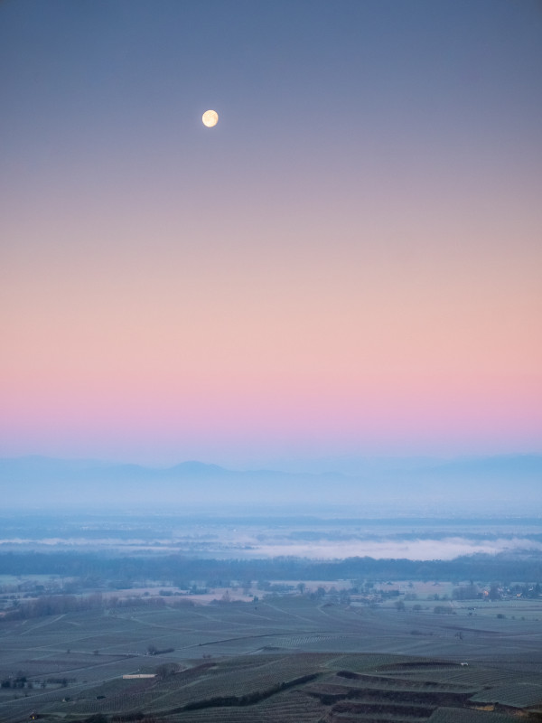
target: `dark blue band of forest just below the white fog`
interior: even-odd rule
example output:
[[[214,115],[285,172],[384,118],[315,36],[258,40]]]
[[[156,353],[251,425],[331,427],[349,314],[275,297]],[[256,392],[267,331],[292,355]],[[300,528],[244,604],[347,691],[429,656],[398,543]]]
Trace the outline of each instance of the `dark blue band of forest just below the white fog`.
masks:
[[[542,555],[509,557],[477,554],[453,560],[300,558],[199,559],[182,555],[111,556],[96,552],[7,552],[0,554],[0,574],[76,577],[82,587],[129,588],[135,581],[169,581],[188,588],[194,580],[209,587],[229,587],[232,580],[442,580],[480,582],[542,581]]]

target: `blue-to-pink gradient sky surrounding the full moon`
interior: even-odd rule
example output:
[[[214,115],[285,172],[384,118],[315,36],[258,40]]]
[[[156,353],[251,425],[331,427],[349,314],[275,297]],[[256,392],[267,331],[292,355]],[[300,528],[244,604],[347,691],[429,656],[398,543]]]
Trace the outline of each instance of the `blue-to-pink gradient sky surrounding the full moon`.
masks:
[[[4,0],[0,455],[542,452],[541,38],[535,0]]]

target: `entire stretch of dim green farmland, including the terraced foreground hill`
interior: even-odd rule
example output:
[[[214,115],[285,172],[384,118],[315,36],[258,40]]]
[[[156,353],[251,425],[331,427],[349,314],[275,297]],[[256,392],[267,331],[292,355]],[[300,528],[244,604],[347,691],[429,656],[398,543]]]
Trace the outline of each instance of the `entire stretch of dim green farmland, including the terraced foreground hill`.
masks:
[[[515,619],[504,601],[438,615],[301,595],[5,619],[0,719],[506,723],[542,709],[542,604],[524,602]]]

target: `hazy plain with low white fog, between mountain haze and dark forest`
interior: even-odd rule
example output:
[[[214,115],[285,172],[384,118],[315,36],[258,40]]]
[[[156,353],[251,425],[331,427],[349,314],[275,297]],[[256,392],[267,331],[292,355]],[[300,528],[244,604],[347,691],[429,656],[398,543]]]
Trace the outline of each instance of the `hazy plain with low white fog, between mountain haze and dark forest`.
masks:
[[[192,515],[16,515],[0,551],[92,550],[213,559],[452,560],[484,553],[542,558],[542,520],[326,519]]]

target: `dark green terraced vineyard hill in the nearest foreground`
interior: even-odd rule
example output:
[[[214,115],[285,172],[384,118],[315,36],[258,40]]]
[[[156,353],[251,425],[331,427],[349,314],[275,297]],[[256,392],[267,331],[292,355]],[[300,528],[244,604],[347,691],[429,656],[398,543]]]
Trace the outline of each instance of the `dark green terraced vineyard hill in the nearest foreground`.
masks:
[[[512,714],[542,706],[542,681],[509,678],[503,686],[502,672],[404,655],[256,653],[45,699],[40,716],[67,723],[96,714],[112,722],[512,723]]]

